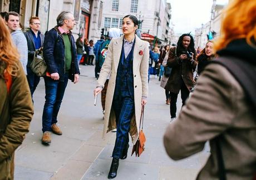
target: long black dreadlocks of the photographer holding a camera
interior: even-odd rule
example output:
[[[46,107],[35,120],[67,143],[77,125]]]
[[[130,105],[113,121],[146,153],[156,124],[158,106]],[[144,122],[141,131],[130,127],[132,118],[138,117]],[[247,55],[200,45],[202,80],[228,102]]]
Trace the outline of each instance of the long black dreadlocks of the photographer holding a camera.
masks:
[[[182,44],[183,38],[185,36],[190,37],[190,43],[189,43],[188,49],[185,49],[183,47],[183,44]],[[193,59],[196,58],[194,38],[192,37],[192,35],[190,35],[190,33],[186,33],[186,34],[181,35],[179,40],[178,40],[178,43],[177,43],[177,56],[180,56],[184,51],[188,51],[188,52],[194,53],[194,58]]]

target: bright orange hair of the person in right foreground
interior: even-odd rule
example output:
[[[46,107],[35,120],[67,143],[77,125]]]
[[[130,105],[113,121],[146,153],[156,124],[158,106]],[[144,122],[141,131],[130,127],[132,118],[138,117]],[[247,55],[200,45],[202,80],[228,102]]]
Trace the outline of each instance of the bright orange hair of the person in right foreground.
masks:
[[[215,50],[225,48],[232,40],[245,38],[247,43],[255,46],[256,39],[256,1],[231,0],[223,13],[220,38],[215,43]]]

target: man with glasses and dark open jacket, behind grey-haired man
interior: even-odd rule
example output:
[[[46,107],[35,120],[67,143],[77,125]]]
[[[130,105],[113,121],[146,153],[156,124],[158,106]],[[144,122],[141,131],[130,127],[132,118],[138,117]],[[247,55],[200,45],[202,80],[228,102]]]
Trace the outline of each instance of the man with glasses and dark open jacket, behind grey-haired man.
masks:
[[[36,50],[43,46],[45,35],[40,32],[40,19],[38,17],[31,17],[29,19],[29,27],[30,29],[24,35],[27,39],[28,46],[27,80],[33,98],[33,93],[40,81],[40,77],[33,73],[30,64],[35,56]]]

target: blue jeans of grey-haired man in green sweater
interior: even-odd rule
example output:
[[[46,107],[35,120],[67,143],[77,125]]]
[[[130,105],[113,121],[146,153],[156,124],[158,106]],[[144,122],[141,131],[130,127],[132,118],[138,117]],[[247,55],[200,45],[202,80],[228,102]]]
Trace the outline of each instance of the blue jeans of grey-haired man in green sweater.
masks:
[[[45,78],[45,106],[43,107],[42,131],[51,131],[51,125],[57,123],[58,111],[67,87],[68,74],[64,81]]]

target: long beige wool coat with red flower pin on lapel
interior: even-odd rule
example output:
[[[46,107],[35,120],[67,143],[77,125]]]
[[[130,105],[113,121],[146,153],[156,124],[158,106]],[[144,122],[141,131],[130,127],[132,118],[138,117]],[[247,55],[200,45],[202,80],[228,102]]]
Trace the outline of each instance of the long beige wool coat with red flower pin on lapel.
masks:
[[[120,61],[123,39],[124,35],[120,38],[111,39],[107,50],[107,56],[97,81],[98,85],[104,86],[107,76],[111,73],[109,85],[107,86],[103,136],[116,128],[116,117],[114,109],[112,108],[112,100],[115,92],[116,73]],[[140,53],[141,55],[139,52],[142,52]],[[132,138],[132,143],[135,144],[139,136],[141,99],[142,96],[147,97],[148,94],[147,74],[149,69],[149,43],[141,40],[137,35],[135,35],[134,59],[132,65],[134,76],[135,114],[131,119],[129,133]]]

